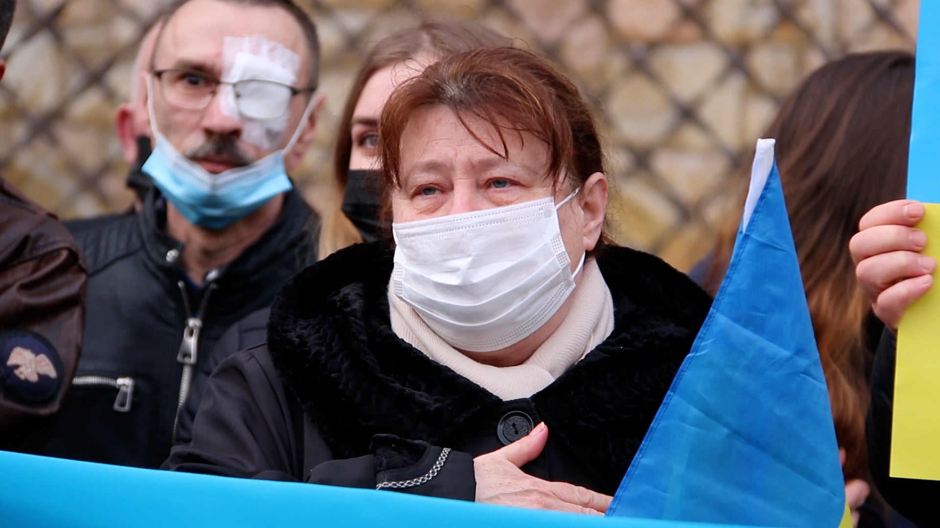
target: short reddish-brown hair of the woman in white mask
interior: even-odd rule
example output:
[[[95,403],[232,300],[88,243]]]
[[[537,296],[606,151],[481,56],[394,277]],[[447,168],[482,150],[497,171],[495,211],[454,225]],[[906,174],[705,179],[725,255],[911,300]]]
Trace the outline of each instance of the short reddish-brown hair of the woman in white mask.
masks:
[[[506,158],[505,133],[528,132],[548,147],[546,178],[579,188],[604,172],[597,123],[578,88],[552,64],[509,46],[453,54],[407,83],[385,103],[379,122],[379,152],[386,196],[400,185],[401,142],[414,116],[443,106],[485,148]],[[467,124],[479,119],[493,127],[500,145],[488,145]],[[386,204],[389,200],[385,200]],[[602,234],[597,248],[609,239]]]

